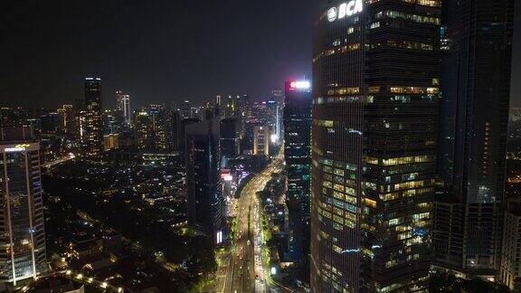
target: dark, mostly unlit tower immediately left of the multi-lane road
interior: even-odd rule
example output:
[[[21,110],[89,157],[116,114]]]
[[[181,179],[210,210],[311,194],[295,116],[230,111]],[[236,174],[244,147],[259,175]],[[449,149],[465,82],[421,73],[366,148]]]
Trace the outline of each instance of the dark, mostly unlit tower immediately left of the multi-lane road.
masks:
[[[185,128],[188,224],[212,237],[214,244],[223,242],[226,227],[219,131],[217,118]]]

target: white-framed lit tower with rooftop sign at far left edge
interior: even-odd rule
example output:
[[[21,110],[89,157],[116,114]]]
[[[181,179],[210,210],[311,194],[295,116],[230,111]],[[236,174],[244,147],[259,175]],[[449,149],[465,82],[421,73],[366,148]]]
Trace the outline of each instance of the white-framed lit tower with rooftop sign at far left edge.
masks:
[[[40,144],[28,128],[0,133],[0,282],[18,286],[47,269]]]

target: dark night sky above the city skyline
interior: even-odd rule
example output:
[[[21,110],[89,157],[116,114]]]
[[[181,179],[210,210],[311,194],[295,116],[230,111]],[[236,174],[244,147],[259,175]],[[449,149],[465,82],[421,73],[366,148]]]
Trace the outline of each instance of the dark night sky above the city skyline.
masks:
[[[103,80],[132,108],[216,94],[267,98],[311,73],[321,0],[22,0],[0,10],[0,106],[55,108]],[[521,106],[521,5],[514,44],[514,106]]]

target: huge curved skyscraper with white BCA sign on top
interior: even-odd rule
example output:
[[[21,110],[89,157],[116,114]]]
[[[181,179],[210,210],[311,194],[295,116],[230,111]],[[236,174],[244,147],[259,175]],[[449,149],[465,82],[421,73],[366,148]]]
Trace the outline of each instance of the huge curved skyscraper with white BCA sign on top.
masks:
[[[313,55],[311,291],[426,291],[440,1],[330,1]]]

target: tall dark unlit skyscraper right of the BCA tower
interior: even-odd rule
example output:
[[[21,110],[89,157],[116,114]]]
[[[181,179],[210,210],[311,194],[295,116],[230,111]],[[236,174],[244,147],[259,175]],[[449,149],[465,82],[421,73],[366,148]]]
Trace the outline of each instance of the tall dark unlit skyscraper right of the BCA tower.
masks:
[[[434,268],[497,280],[514,0],[447,0],[443,11]]]

